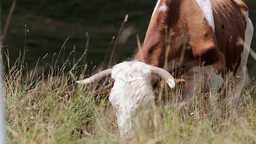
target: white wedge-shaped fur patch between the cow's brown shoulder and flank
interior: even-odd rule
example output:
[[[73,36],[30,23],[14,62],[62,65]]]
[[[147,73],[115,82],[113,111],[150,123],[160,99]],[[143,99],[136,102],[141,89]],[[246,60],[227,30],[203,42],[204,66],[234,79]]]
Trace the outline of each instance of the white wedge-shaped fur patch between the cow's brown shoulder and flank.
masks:
[[[206,21],[212,27],[212,30],[215,31],[212,4],[210,0],[196,0],[196,2],[199,4],[201,10],[203,11]]]

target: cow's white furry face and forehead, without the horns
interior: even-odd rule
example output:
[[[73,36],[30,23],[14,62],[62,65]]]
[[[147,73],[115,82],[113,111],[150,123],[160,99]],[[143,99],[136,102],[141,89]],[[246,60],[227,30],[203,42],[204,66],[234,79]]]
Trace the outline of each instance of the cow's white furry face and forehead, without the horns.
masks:
[[[132,119],[140,103],[154,100],[146,78],[151,74],[148,67],[140,62],[122,62],[113,67],[111,77],[115,82],[109,100],[116,112],[121,137],[133,136]]]

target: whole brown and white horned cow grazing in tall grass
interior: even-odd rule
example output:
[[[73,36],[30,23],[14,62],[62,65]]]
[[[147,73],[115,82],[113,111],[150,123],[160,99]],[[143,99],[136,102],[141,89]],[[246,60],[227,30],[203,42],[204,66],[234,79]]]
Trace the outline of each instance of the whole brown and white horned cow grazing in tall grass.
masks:
[[[179,68],[185,79],[180,101],[191,98],[199,84],[210,82],[216,91],[226,84],[226,97],[235,99],[235,108],[244,85],[253,30],[248,7],[242,0],[158,0],[142,50],[133,60],[77,82],[86,84],[105,76],[114,79],[109,99],[120,134],[127,137],[133,136],[132,117],[138,106],[155,96],[155,76],[164,78],[173,88],[175,82],[170,74],[179,79]],[[239,44],[238,38],[245,43]],[[168,72],[160,70],[164,68],[166,50]]]

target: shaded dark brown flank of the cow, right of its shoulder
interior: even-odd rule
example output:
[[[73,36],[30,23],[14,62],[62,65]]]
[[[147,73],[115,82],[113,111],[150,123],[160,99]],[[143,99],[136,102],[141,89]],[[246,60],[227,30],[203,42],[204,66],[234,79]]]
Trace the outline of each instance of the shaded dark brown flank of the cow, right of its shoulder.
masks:
[[[238,38],[244,40],[248,7],[242,0],[211,0],[211,3],[218,48],[225,56],[227,71],[235,74],[244,49]]]

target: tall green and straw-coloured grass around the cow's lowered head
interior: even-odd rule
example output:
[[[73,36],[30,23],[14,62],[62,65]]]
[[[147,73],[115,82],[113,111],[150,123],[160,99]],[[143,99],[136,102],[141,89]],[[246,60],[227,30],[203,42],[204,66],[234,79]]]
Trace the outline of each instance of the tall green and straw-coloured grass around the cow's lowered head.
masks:
[[[89,86],[74,83],[83,73],[77,64],[83,60],[85,53],[76,62],[67,61],[59,68],[54,67],[53,62],[46,75],[26,70],[22,59],[17,60],[21,66],[16,64],[9,67],[4,81],[9,143],[129,143],[119,138],[115,114],[108,98],[103,93],[99,94],[102,97],[95,98],[95,92],[104,88],[102,83]],[[66,67],[69,67],[68,71]],[[39,70],[37,72],[40,73]],[[180,118],[177,107],[171,104],[161,110],[141,111],[138,114],[139,122],[134,127],[137,134],[132,142],[253,144],[256,142],[256,102],[252,98],[254,87],[252,85],[244,92],[245,113],[238,120],[222,119],[220,111],[223,108],[209,112],[200,104],[202,114],[191,115],[185,120]],[[148,112],[153,112],[151,118],[146,118]],[[162,118],[159,117],[160,113]]]

